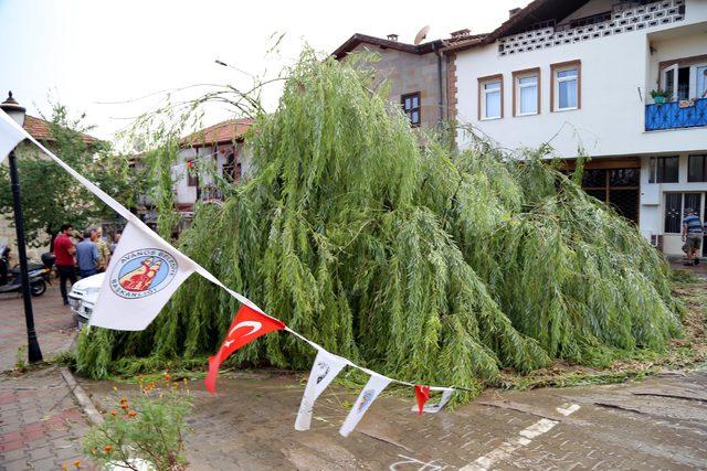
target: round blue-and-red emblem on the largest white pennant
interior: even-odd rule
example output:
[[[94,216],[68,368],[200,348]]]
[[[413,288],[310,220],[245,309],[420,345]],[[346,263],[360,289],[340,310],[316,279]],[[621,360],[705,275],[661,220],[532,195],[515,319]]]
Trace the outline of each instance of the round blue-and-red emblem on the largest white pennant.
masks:
[[[171,254],[144,248],[122,256],[110,271],[110,289],[120,298],[155,295],[175,279],[179,265]]]

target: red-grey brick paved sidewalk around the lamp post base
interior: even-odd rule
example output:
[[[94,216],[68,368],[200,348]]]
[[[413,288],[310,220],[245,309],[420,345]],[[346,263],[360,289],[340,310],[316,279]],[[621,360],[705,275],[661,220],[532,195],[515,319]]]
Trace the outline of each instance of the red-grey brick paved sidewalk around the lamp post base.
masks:
[[[34,323],[45,360],[68,351],[76,338],[71,311],[56,285],[32,298]],[[19,349],[22,349],[18,355]],[[81,440],[88,428],[57,367],[12,373],[27,362],[22,298],[0,299],[0,471],[76,469],[84,464]]]

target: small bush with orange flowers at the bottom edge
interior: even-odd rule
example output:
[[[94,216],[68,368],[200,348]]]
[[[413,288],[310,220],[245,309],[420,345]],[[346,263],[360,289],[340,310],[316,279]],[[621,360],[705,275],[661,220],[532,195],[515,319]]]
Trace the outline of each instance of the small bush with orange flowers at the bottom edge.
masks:
[[[187,469],[183,435],[191,400],[184,387],[165,375],[163,387],[140,384],[140,395],[122,397],[104,421],[88,430],[84,451],[102,468],[157,471]]]

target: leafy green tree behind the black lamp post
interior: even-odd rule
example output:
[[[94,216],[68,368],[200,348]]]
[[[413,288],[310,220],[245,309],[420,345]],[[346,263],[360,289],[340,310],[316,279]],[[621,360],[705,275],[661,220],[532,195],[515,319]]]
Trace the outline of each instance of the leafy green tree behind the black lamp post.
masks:
[[[83,139],[91,128],[84,117],[71,118],[66,107],[54,104],[49,120],[52,141],[48,148],[106,193],[130,207],[140,194],[139,179],[133,180],[125,157],[110,151],[107,142]],[[64,223],[82,229],[101,218],[113,218],[113,211],[44,156],[34,144],[18,147],[18,168],[22,186],[22,212],[27,239],[35,246],[46,242]],[[137,175],[136,175],[137,176]],[[12,213],[9,170],[0,168],[0,212]]]

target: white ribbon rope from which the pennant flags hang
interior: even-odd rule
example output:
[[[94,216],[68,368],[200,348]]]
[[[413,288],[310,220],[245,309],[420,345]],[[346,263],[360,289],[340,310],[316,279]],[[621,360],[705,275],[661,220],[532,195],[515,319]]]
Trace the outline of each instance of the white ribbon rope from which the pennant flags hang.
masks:
[[[7,114],[4,111],[0,110],[0,115],[1,115],[0,121],[4,121],[7,126],[10,126],[11,128],[14,128],[15,131],[21,131],[22,135],[24,135],[24,137],[28,140],[30,140],[32,143],[34,143],[42,152],[44,152],[50,159],[52,159],[54,162],[56,162],[62,169],[64,169],[66,172],[68,172],[70,175],[72,175],[78,183],[81,183],[88,191],[91,191],[96,197],[98,197],[98,200],[103,201],[113,211],[118,213],[120,216],[123,216],[129,223],[135,224],[146,235],[150,236],[151,238],[154,238],[155,240],[159,242],[160,244],[167,244],[167,246],[172,247],[171,244],[169,244],[167,240],[165,240],[162,237],[160,237],[159,234],[154,232],[151,228],[149,228],[147,226],[147,224],[145,224],[143,221],[140,221],[139,217],[137,217],[135,214],[130,213],[130,211],[127,207],[123,206],[120,203],[118,203],[116,200],[114,200],[106,192],[101,190],[98,186],[96,186],[89,180],[87,180],[82,174],[80,174],[74,169],[72,169],[66,162],[64,162],[59,157],[56,157],[52,151],[50,151],[44,146],[42,146],[36,139],[34,139],[32,136],[30,136],[30,133],[27,130],[24,130],[17,122],[14,122],[14,120],[12,120],[12,118],[7,116]],[[204,277],[205,279],[208,279],[212,283],[217,285],[218,287],[223,288],[224,290],[226,290],[229,292],[229,295],[231,295],[233,298],[235,298],[239,302],[241,302],[243,304],[246,304],[247,307],[261,312],[262,314],[265,314],[265,315],[267,315],[267,317],[270,317],[272,319],[276,319],[276,320],[279,321],[279,319],[267,314],[257,304],[255,304],[253,301],[251,301],[250,299],[247,299],[243,295],[241,295],[241,293],[239,293],[236,291],[233,291],[232,289],[228,288],[217,277],[214,277],[209,270],[207,270],[201,265],[199,265],[196,261],[193,261],[191,258],[189,258],[188,256],[182,254],[180,250],[178,250],[177,248],[173,248],[173,247],[172,247],[172,249],[175,251],[177,251],[179,255],[181,255],[182,257],[184,257],[187,259],[188,264],[190,264],[193,267],[193,270],[196,272],[198,272],[199,275],[201,275],[202,277]],[[294,334],[298,339],[307,342],[309,345],[312,345],[317,351],[318,350],[326,351],[323,346],[318,345],[316,342],[310,341],[309,339],[307,339],[306,336],[302,335],[300,333],[292,330],[291,328],[286,327],[285,330],[287,332]],[[330,353],[330,352],[327,352],[327,353]],[[335,355],[334,353],[331,353],[331,354]],[[386,379],[389,379],[391,383],[398,383],[398,384],[402,384],[402,385],[405,385],[405,386],[415,386],[413,383],[409,383],[409,382],[405,382],[405,381],[391,378],[391,377],[388,377],[388,376],[382,375],[380,373],[377,373],[377,372],[374,372],[372,370],[368,370],[368,368],[365,368],[363,366],[359,366],[356,363],[351,362],[349,358],[345,358],[345,360],[349,363],[349,366],[358,368],[358,370],[362,371],[363,373],[367,373],[367,374],[369,374],[371,376],[380,376],[380,377],[383,377]],[[442,392],[446,392],[446,390],[453,392],[455,389],[469,390],[469,389],[466,389],[466,388],[463,388],[463,387],[458,387],[458,386],[430,386],[430,389],[431,390],[442,390]]]

